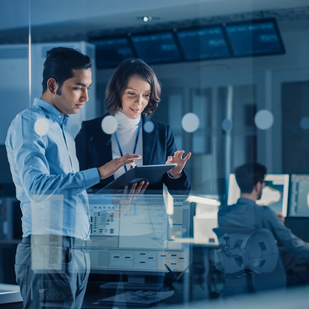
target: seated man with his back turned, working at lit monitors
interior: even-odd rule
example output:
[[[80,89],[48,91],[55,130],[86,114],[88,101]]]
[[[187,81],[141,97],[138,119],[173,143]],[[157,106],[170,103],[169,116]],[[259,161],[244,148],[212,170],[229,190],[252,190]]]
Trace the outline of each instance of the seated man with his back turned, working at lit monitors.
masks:
[[[235,169],[240,188],[240,198],[235,205],[222,206],[218,212],[218,227],[221,233],[251,234],[258,229],[271,231],[279,245],[284,246],[298,258],[309,258],[309,243],[295,236],[279,215],[267,206],[259,206],[256,200],[265,186],[266,167],[258,163],[246,163]],[[285,273],[281,259],[274,273],[255,276],[256,290],[285,286]]]

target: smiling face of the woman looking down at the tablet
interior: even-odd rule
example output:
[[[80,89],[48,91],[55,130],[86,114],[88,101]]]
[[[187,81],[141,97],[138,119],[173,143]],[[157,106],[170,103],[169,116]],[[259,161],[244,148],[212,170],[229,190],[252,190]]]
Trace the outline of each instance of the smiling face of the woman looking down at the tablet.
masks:
[[[150,93],[150,84],[141,76],[132,75],[121,97],[121,111],[131,119],[139,118],[148,104]]]

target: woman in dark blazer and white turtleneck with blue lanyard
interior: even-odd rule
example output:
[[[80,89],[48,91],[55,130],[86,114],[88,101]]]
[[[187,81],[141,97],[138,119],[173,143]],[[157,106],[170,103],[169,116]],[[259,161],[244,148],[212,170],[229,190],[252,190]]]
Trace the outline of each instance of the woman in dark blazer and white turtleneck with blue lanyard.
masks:
[[[106,88],[104,104],[108,114],[83,121],[75,138],[80,169],[102,166],[125,153],[140,154],[142,159],[135,160],[136,165],[177,163],[155,183],[150,183],[148,192],[162,192],[164,183],[171,194],[190,194],[191,185],[182,170],[191,153],[182,158],[184,151],[176,149],[169,125],[148,117],[158,107],[160,95],[157,77],[145,62],[139,59],[123,61]],[[118,121],[118,129],[112,135],[104,133],[101,128],[102,120],[108,115],[115,116]],[[147,132],[146,123],[151,128],[146,129]],[[122,167],[113,176],[101,180],[95,188],[103,188],[129,168],[129,165]]]

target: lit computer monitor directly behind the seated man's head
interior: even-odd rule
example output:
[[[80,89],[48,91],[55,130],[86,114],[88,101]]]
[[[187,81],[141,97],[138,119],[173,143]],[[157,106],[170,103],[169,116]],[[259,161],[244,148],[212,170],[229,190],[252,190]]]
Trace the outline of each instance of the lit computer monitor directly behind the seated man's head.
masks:
[[[289,194],[289,175],[288,174],[267,174],[265,176],[265,188],[262,197],[256,201],[260,206],[269,206],[273,211],[287,215]],[[240,197],[240,189],[236,182],[235,174],[229,176],[227,204],[232,205]]]

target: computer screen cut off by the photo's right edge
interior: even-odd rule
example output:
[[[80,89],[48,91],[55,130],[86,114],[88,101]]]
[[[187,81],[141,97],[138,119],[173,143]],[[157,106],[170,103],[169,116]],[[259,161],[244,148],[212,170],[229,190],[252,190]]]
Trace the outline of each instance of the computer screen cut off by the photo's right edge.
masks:
[[[292,174],[289,217],[309,217],[309,175]]]

